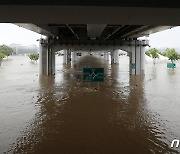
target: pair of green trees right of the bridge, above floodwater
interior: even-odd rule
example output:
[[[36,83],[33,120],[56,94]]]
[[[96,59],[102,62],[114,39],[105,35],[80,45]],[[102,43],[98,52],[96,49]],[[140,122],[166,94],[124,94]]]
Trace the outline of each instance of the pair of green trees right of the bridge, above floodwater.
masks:
[[[155,64],[155,60],[157,58],[159,58],[159,55],[168,57],[172,63],[174,63],[176,60],[180,59],[180,54],[178,52],[176,52],[176,50],[173,48],[167,48],[164,52],[160,52],[156,48],[152,48],[152,49],[146,51],[145,54],[147,56],[153,58],[154,64]]]

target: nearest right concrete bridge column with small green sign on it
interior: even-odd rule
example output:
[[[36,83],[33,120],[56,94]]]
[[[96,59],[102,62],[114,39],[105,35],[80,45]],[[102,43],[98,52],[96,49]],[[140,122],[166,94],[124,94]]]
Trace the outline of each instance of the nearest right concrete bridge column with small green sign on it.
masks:
[[[130,74],[144,75],[144,65],[145,65],[144,58],[145,58],[145,47],[139,45],[131,48]]]

